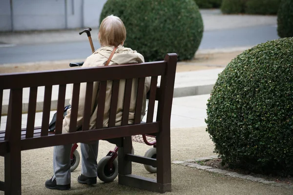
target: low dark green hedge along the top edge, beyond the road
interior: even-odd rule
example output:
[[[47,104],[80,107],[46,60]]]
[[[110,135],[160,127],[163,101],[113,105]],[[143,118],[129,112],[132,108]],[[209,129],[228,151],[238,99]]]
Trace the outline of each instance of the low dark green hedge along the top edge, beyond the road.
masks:
[[[281,0],[223,0],[224,14],[276,15]]]

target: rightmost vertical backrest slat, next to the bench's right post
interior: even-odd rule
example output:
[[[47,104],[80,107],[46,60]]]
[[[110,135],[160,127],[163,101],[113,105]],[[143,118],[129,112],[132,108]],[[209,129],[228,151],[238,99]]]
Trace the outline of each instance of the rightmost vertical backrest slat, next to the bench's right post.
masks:
[[[146,122],[153,121],[156,92],[157,92],[157,82],[158,82],[158,77],[152,77],[150,80],[150,90],[149,90]]]

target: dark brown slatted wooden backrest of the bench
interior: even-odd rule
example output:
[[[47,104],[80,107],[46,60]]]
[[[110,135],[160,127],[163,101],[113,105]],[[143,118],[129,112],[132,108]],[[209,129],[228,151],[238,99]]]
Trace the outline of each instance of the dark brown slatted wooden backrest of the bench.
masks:
[[[17,74],[0,74],[0,113],[2,94],[4,89],[10,89],[7,126],[5,138],[2,142],[19,142],[21,150],[42,148],[54,145],[85,142],[97,139],[126,137],[138,134],[151,134],[169,128],[171,105],[173,97],[174,79],[176,72],[177,55],[167,54],[164,61],[146,62],[141,64],[115,65],[95,68],[52,70]],[[160,87],[157,88],[157,79],[161,76]],[[145,124],[140,124],[143,102],[145,78],[151,77],[151,87]],[[138,92],[134,124],[127,125],[132,79],[138,78]],[[115,127],[119,80],[126,79],[122,126]],[[112,97],[109,116],[109,127],[103,128],[103,113],[105,108],[106,81],[113,80]],[[98,117],[96,130],[88,130],[91,116],[91,98],[93,82],[100,81],[98,99]],[[86,82],[84,102],[83,129],[74,132],[77,120],[80,84]],[[73,83],[72,109],[69,131],[62,134],[63,109],[65,102],[66,84]],[[59,85],[57,103],[57,122],[55,135],[48,135],[52,86]],[[37,91],[44,86],[44,100],[42,110],[42,126],[34,127]],[[21,131],[22,89],[29,87],[28,116],[25,131]],[[153,122],[155,100],[158,100],[157,119]],[[36,129],[38,132],[36,134]],[[3,133],[3,132],[2,132]],[[2,147],[6,148],[6,147]],[[7,149],[7,148],[6,148]],[[1,150],[1,147],[0,147]],[[3,151],[2,151],[3,152]]]

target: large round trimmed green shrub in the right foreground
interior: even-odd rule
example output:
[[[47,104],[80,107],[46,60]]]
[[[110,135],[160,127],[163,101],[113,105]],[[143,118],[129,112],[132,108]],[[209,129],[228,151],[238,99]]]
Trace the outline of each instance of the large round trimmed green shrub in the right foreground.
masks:
[[[208,100],[207,132],[230,166],[293,174],[293,38],[233,59]]]

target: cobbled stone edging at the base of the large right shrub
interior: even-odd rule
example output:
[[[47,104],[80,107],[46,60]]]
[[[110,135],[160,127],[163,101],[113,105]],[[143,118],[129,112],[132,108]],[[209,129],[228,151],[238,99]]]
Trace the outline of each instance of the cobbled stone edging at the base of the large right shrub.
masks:
[[[199,170],[204,170],[204,171],[207,171],[207,172],[210,172],[210,173],[221,174],[221,175],[224,175],[224,176],[236,177],[236,178],[240,178],[240,179],[245,179],[245,180],[249,180],[249,181],[263,183],[263,184],[271,184],[272,186],[281,186],[281,187],[286,187],[286,188],[289,188],[289,189],[293,189],[293,185],[288,186],[286,184],[277,183],[275,181],[269,181],[269,180],[266,180],[264,178],[254,177],[254,176],[250,176],[250,175],[242,175],[242,174],[238,174],[238,173],[235,173],[235,172],[230,172],[230,171],[226,171],[226,170],[222,170],[222,169],[215,169],[213,167],[203,166],[203,165],[200,165],[200,164],[196,163],[196,162],[199,162],[199,161],[208,161],[208,160],[216,159],[216,158],[218,158],[218,156],[200,157],[200,158],[188,159],[188,160],[183,160],[183,161],[173,161],[172,164],[183,165],[183,166],[190,167],[190,168],[196,168],[196,169],[199,169]]]

